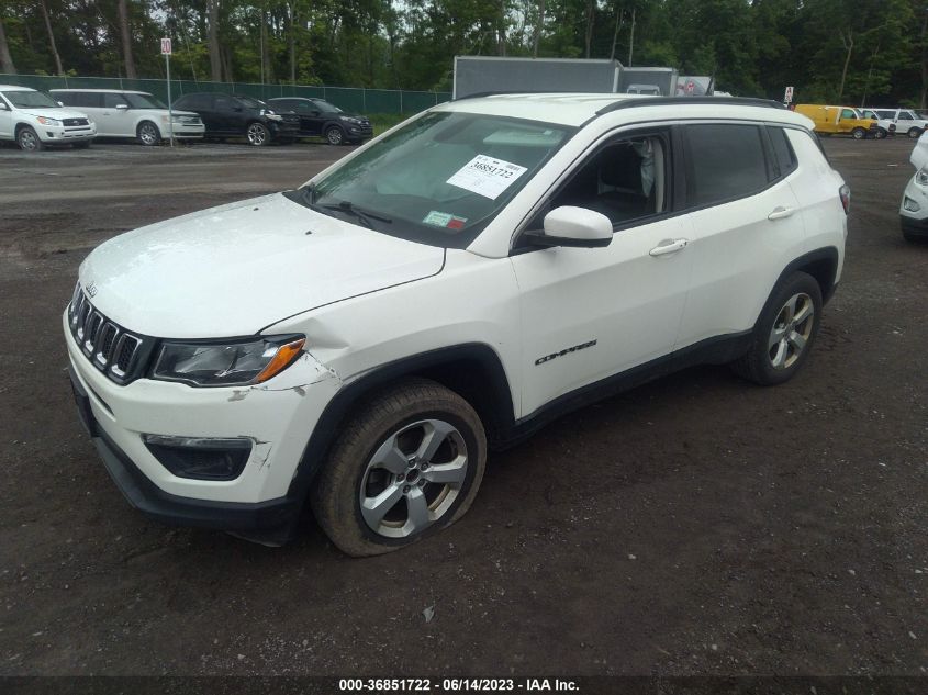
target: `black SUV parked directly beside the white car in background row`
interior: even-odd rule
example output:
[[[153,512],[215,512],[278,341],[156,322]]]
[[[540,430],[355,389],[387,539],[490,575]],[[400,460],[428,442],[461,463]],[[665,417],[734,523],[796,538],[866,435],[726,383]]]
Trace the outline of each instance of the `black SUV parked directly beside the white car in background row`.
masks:
[[[262,101],[244,94],[183,94],[174,108],[200,114],[205,137],[244,136],[249,144],[261,146],[271,141],[293,142],[300,136],[298,116],[276,113]]]

